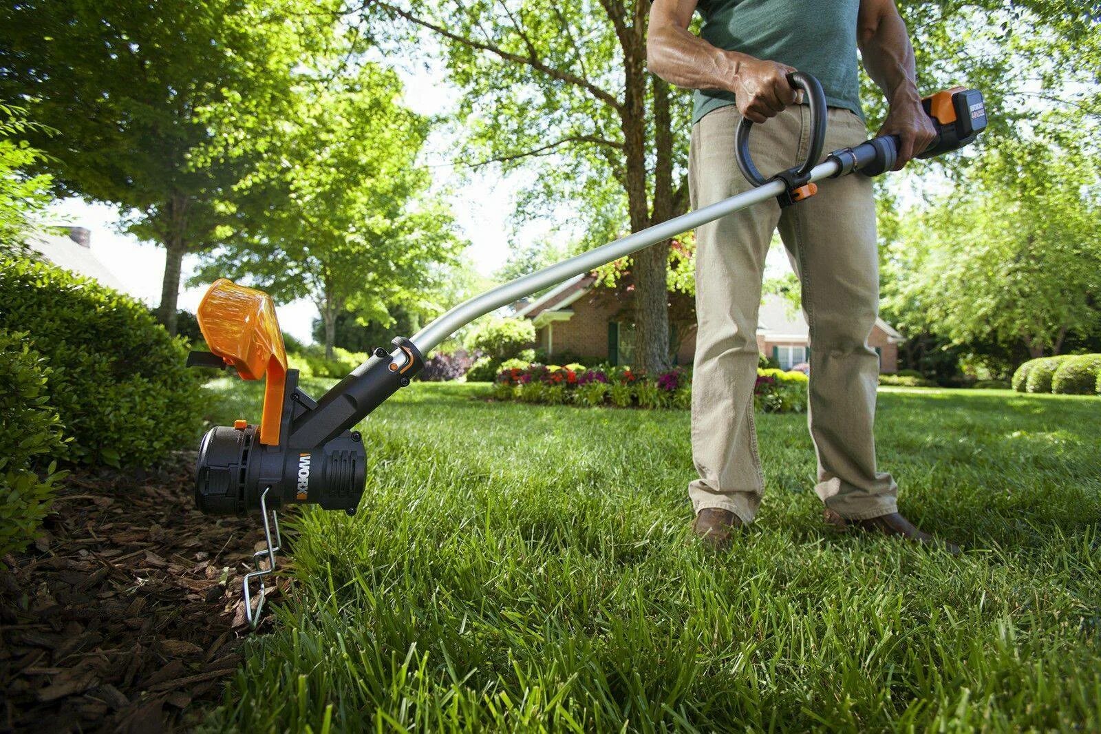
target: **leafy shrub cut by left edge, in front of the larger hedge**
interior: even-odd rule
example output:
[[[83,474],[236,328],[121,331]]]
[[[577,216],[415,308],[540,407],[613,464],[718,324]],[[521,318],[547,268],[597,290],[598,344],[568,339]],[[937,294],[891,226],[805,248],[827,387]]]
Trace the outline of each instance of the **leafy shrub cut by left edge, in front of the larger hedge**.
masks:
[[[25,333],[0,331],[0,558],[34,538],[65,474],[53,461],[65,442],[50,404],[48,375]]]

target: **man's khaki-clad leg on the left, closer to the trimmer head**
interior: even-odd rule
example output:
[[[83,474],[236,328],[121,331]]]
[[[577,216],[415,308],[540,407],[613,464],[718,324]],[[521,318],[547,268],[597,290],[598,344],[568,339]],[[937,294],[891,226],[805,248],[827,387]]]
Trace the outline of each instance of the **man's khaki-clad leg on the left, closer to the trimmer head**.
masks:
[[[734,160],[740,121],[734,107],[723,107],[693,128],[688,181],[694,208],[751,188]],[[791,108],[755,127],[754,162],[767,172],[794,165],[800,132],[799,112]],[[751,522],[761,504],[753,425],[756,321],[765,256],[778,219],[780,206],[770,201],[696,230],[691,442],[699,478],[688,485],[688,496],[697,514],[718,508]],[[698,517],[697,531],[704,519]]]

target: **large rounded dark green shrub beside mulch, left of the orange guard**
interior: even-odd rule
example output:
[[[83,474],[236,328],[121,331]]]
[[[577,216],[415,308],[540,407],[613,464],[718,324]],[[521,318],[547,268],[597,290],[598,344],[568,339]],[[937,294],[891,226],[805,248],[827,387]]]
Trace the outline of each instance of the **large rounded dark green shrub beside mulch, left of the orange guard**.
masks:
[[[0,328],[29,332],[53,370],[50,401],[73,439],[66,460],[148,466],[192,446],[200,370],[138,301],[46,262],[0,261]]]

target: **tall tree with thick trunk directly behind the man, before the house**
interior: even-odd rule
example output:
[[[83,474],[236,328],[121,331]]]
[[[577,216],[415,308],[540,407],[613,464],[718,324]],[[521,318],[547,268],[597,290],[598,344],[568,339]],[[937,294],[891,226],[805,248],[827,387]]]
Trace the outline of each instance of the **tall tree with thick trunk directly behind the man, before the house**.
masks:
[[[688,130],[688,97],[646,72],[646,0],[370,0],[364,8],[375,35],[382,17],[402,22],[406,42],[427,32],[443,44],[476,151],[460,164],[546,163],[521,197],[521,218],[564,199],[584,203],[582,239],[595,245],[687,209],[686,151],[674,130]],[[632,258],[635,355],[651,369],[669,359],[668,248]]]

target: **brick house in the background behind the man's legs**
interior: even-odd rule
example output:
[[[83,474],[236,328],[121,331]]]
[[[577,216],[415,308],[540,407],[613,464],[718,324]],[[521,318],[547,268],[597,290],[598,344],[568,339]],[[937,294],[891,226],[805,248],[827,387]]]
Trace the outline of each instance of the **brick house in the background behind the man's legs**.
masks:
[[[535,346],[546,350],[548,357],[565,355],[629,364],[634,328],[624,315],[630,304],[609,289],[593,288],[593,281],[588,274],[571,278],[535,300],[521,301],[515,305],[515,315],[533,322]],[[809,336],[802,311],[777,295],[766,295],[757,322],[761,354],[771,356],[784,369],[807,361]],[[678,342],[676,361],[690,365],[696,352],[695,326],[683,331],[677,335],[674,328],[674,342]],[[902,341],[889,323],[875,320],[868,342],[880,355],[880,371],[897,371]]]

